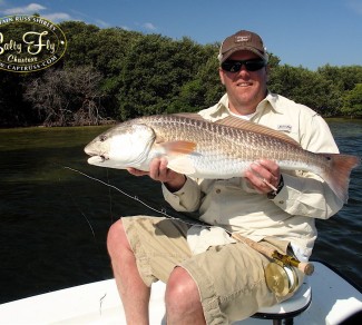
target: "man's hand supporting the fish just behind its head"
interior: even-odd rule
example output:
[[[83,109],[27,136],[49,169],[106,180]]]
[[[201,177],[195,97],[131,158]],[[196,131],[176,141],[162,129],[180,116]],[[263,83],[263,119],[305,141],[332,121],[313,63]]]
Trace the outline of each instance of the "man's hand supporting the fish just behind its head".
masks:
[[[167,168],[167,159],[165,158],[153,159],[149,164],[149,171],[139,170],[136,168],[127,168],[127,170],[134,176],[148,175],[151,179],[164,183],[170,191],[180,189],[186,181],[186,177],[184,175]]]

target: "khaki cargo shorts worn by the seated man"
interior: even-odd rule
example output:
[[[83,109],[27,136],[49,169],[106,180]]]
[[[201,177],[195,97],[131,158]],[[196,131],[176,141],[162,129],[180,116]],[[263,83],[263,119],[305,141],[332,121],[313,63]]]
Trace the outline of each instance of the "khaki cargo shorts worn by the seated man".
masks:
[[[186,240],[188,224],[147,216],[121,220],[145,284],[167,283],[176,266],[185,268],[198,286],[207,324],[244,319],[280,301],[265,283],[270,260],[246,244],[213,246],[193,255]]]

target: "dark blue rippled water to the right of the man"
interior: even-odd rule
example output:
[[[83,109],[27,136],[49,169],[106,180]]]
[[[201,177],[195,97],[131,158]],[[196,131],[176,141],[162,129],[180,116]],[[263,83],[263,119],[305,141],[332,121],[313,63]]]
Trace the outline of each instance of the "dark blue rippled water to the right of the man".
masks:
[[[331,119],[330,128],[343,154],[362,157],[362,120]],[[349,203],[329,220],[316,220],[313,257],[327,260],[362,287],[362,167],[351,174]]]

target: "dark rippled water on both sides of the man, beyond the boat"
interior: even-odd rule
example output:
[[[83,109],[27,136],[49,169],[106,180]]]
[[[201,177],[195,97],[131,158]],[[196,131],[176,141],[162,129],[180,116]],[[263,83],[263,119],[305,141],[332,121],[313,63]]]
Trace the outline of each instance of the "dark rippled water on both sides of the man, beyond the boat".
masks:
[[[341,151],[362,156],[362,121],[329,124]],[[0,303],[111,277],[109,226],[121,215],[154,214],[65,166],[176,216],[148,177],[87,165],[82,148],[102,129],[0,130]],[[360,286],[361,179],[359,167],[352,174],[349,204],[331,219],[317,220],[313,253]]]

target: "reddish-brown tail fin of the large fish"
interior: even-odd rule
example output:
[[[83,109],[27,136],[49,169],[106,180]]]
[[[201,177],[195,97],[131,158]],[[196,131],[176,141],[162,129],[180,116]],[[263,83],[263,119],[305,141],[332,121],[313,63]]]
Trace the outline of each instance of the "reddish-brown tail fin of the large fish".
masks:
[[[324,154],[324,157],[331,160],[331,164],[323,178],[336,196],[346,203],[350,175],[352,169],[361,164],[361,159],[356,156],[340,154]]]

